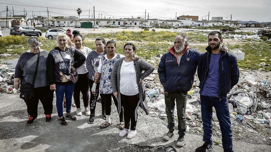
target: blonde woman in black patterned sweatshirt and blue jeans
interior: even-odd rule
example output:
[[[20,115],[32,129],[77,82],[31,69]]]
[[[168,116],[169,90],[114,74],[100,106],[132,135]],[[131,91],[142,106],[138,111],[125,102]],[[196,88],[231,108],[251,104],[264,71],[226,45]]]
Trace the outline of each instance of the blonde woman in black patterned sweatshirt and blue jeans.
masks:
[[[86,57],[78,50],[67,47],[69,37],[60,33],[57,37],[57,47],[52,49],[47,57],[47,76],[51,90],[56,93],[56,107],[61,125],[67,123],[63,117],[63,97],[66,97],[66,118],[76,120],[71,114],[71,100],[74,83],[71,81],[71,72],[79,68],[86,60]]]

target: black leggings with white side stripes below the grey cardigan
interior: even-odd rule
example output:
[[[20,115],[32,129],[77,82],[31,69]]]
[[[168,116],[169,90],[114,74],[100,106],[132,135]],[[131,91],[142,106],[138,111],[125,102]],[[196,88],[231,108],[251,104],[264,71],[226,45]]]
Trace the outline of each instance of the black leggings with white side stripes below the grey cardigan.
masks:
[[[137,109],[139,106],[139,94],[136,95],[123,95],[120,94],[121,105],[124,110],[124,128],[130,128],[131,121],[131,130],[136,130],[137,122]]]

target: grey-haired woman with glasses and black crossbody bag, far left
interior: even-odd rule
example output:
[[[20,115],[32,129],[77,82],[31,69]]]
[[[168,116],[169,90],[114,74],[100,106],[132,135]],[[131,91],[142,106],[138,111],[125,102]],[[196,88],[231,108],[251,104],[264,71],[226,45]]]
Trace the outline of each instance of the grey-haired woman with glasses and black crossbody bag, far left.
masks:
[[[38,116],[38,101],[40,100],[44,109],[46,122],[52,120],[51,114],[53,111],[54,91],[50,90],[50,84],[47,79],[46,60],[49,52],[40,49],[37,37],[29,37],[28,46],[30,50],[22,53],[15,67],[14,88],[18,90],[19,81],[21,84],[30,83],[33,86],[34,82],[34,97],[25,99],[28,113],[27,125],[32,125]],[[38,58],[39,57],[39,58]],[[39,59],[39,60],[38,60]],[[34,79],[36,64],[38,60],[37,74]]]

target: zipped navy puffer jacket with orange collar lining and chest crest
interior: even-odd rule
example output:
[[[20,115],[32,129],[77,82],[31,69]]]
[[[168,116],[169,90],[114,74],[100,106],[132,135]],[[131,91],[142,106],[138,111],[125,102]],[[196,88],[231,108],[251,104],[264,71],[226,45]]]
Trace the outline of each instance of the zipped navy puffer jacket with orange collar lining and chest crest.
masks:
[[[200,51],[187,47],[178,65],[174,47],[164,53],[157,71],[167,92],[188,92],[192,88],[200,55]]]

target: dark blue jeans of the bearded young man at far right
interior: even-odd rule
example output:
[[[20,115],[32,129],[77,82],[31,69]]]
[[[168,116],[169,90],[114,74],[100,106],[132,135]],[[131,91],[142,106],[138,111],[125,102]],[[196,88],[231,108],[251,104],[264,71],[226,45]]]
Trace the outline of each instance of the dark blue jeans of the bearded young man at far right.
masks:
[[[219,126],[222,134],[222,146],[224,152],[233,152],[233,138],[227,95],[222,95],[220,96],[220,98],[200,95],[200,104],[204,131],[203,141],[208,144],[213,144],[212,108],[214,107],[216,109],[216,116],[219,121]]]

